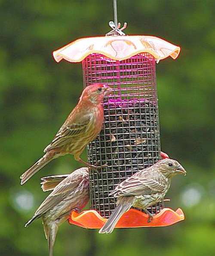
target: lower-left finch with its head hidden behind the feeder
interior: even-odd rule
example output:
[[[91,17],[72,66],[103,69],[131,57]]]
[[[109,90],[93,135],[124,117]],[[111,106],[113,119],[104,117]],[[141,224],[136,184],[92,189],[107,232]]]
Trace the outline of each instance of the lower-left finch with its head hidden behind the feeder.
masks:
[[[89,170],[82,167],[69,175],[48,176],[41,180],[43,191],[53,191],[25,227],[42,218],[49,256],[52,256],[58,226],[68,219],[72,210],[82,210],[89,201]]]

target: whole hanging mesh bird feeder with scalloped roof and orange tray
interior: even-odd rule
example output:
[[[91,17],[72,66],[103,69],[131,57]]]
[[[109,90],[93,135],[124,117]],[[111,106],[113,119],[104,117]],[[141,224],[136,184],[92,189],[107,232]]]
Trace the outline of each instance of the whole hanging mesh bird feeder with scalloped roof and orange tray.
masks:
[[[91,210],[72,212],[69,222],[84,228],[101,228],[116,207],[109,196],[115,186],[132,174],[160,160],[156,62],[176,59],[180,47],[152,36],[125,36],[117,22],[114,0],[112,30],[104,37],[75,40],[53,52],[56,62],[82,62],[83,86],[107,84],[112,93],[104,99],[104,125],[88,146],[88,159],[100,166],[90,172]],[[160,202],[149,210],[152,222],[139,209],[130,209],[117,228],[172,225],[184,219],[181,209],[173,211]]]

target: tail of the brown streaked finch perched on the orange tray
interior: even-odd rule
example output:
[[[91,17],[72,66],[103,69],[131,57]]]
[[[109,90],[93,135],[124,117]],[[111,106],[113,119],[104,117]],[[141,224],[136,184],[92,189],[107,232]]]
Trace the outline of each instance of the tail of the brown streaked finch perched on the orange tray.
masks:
[[[122,201],[122,200],[121,200]],[[104,226],[99,230],[98,233],[100,234],[110,234],[113,232],[115,226],[117,225],[118,220],[121,218],[123,213],[125,213],[127,210],[130,209],[132,206],[132,201],[126,202],[126,203],[119,203],[117,207],[115,208],[114,212],[111,214],[110,218],[107,220],[107,222],[104,224]]]

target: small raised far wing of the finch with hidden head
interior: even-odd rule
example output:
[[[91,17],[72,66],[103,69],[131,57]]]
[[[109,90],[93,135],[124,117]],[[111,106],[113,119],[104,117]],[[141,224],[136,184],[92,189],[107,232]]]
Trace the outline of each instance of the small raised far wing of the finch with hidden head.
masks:
[[[68,174],[53,175],[41,178],[41,188],[44,192],[53,190],[62,180],[68,177]]]

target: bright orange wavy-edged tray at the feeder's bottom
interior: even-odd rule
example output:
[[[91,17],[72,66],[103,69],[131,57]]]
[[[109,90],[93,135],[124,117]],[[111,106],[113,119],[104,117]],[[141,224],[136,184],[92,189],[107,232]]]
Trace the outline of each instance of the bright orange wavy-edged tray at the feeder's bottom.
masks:
[[[164,208],[160,213],[154,215],[152,222],[148,223],[147,220],[147,214],[130,209],[123,214],[116,228],[165,227],[184,220],[184,213],[180,208],[176,211],[170,208]],[[95,210],[87,210],[82,213],[73,211],[69,218],[70,224],[82,228],[101,228],[106,221],[107,219],[102,218]]]

